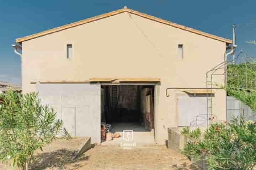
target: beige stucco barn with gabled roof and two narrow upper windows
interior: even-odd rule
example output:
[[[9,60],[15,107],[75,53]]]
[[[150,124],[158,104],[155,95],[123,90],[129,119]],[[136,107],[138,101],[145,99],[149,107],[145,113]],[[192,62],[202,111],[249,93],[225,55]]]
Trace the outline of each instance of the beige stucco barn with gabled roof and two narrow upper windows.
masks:
[[[58,118],[74,119],[67,125],[74,136],[100,142],[101,87],[136,85],[137,91],[153,89],[154,140],[160,144],[168,127],[207,113],[206,72],[224,61],[231,44],[126,7],[16,42],[22,46],[23,93],[39,91],[60,112]],[[213,82],[224,84],[224,75]],[[225,120],[225,91],[211,92],[213,114]]]

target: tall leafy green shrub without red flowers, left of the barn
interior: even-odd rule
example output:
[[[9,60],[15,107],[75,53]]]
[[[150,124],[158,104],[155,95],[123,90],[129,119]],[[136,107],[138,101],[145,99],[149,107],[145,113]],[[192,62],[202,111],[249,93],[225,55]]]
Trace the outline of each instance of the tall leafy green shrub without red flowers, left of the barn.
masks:
[[[36,92],[22,96],[7,90],[0,98],[0,159],[28,170],[34,153],[60,134],[62,121],[55,120],[52,108],[41,105]]]

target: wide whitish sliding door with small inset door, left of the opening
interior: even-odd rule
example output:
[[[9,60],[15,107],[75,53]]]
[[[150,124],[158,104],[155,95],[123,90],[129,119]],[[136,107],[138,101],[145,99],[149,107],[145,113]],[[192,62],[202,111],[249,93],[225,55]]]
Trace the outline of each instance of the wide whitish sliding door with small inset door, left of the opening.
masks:
[[[37,90],[42,103],[56,109],[57,119],[63,120],[71,136],[90,136],[92,142],[101,142],[100,85],[37,84]]]

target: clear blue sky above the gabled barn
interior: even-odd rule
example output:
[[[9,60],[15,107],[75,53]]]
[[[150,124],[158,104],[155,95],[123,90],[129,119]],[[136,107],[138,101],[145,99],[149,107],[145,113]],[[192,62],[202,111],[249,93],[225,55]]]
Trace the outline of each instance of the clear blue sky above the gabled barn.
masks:
[[[127,6],[171,22],[232,38],[238,24],[238,51],[256,57],[255,0],[0,0],[0,80],[21,84],[20,57],[11,44],[16,38],[62,26]],[[207,57],[207,56],[206,56]]]

